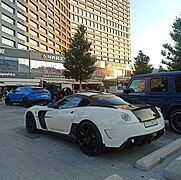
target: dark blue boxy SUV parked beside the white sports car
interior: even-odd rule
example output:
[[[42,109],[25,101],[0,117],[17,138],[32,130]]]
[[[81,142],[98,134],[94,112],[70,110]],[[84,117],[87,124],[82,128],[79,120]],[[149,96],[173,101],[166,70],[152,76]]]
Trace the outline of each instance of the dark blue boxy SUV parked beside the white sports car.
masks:
[[[181,134],[181,71],[134,76],[121,97],[160,107],[172,129]]]

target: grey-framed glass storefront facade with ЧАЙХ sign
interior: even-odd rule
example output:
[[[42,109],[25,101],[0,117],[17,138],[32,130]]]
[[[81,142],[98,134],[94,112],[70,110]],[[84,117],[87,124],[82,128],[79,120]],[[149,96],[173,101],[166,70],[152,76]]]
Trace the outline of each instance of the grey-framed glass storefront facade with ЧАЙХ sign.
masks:
[[[0,48],[0,78],[61,76],[62,56],[57,54]]]

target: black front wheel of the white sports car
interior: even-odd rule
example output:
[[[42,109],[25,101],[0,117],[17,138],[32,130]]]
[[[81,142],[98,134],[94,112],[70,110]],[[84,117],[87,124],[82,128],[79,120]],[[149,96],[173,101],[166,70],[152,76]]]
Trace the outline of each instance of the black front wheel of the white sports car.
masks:
[[[27,113],[25,124],[26,124],[26,130],[29,133],[36,133],[37,132],[35,118],[31,112]]]

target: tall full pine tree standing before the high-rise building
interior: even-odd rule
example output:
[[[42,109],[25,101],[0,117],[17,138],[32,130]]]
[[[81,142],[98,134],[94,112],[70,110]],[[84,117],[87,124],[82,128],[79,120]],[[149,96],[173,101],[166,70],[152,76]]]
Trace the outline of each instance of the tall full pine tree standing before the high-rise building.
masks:
[[[73,78],[80,82],[80,92],[82,91],[82,82],[91,78],[96,70],[96,57],[91,55],[91,43],[86,36],[86,27],[79,25],[75,33],[70,49],[64,52],[64,75],[67,78]]]

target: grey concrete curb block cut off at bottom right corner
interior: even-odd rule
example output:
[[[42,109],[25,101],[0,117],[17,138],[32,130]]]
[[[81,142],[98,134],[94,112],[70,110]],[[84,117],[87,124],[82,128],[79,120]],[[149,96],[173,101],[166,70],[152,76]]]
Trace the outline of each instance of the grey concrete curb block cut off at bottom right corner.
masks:
[[[181,180],[181,156],[166,167],[164,176],[171,180]]]

